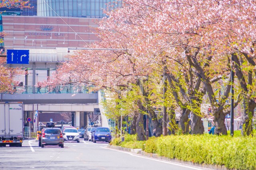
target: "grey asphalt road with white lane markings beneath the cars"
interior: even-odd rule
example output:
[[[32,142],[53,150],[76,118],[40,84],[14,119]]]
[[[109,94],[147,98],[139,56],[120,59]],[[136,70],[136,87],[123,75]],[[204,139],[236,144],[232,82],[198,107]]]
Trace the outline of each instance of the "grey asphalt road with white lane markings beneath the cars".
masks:
[[[35,140],[22,147],[0,147],[0,169],[3,170],[199,170],[202,168],[114,150],[108,143],[64,143],[38,147]]]

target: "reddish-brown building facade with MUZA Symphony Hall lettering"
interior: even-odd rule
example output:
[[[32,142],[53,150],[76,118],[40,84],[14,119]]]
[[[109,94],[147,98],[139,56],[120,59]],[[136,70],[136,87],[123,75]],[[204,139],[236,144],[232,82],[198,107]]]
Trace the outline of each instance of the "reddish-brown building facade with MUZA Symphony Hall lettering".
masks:
[[[98,41],[92,18],[2,16],[5,50],[86,47]]]

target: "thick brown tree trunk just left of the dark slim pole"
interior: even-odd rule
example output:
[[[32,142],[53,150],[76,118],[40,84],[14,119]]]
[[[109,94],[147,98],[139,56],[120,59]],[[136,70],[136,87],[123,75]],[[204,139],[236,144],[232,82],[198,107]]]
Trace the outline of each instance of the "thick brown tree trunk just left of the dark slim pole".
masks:
[[[222,134],[227,135],[227,129],[225,125],[225,114],[223,113],[223,110],[218,111],[218,113],[214,114],[214,122],[215,122],[215,130],[214,134]]]

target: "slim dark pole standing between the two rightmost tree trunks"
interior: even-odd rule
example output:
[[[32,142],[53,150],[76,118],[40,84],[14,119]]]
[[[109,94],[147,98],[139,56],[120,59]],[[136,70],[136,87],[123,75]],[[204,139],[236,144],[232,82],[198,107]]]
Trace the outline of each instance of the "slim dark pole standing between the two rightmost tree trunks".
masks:
[[[231,55],[231,106],[230,106],[230,135],[234,136],[234,59]]]

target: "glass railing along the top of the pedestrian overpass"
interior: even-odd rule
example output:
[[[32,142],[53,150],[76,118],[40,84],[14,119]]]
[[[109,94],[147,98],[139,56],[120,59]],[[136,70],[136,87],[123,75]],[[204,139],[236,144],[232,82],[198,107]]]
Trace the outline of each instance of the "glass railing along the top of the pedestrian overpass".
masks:
[[[52,87],[35,87],[35,94],[77,94],[77,93],[97,93],[98,91],[94,91],[92,86],[78,86],[76,85],[61,85]],[[13,93],[5,93],[5,94],[33,94],[33,86],[17,86]]]

